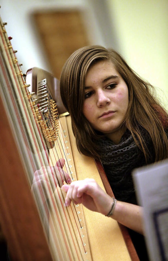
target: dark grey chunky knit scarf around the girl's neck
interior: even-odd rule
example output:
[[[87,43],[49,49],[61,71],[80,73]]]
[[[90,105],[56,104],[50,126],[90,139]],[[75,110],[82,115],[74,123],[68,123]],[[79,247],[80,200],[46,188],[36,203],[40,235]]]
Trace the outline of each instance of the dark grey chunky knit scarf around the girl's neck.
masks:
[[[149,135],[144,132],[144,139],[151,155],[153,145]],[[97,142],[98,153],[104,171],[116,199],[130,202],[135,197],[132,180],[132,170],[146,165],[143,152],[137,147],[129,130],[126,130],[119,144],[114,144],[109,138],[100,138]],[[148,163],[154,161],[153,156]]]

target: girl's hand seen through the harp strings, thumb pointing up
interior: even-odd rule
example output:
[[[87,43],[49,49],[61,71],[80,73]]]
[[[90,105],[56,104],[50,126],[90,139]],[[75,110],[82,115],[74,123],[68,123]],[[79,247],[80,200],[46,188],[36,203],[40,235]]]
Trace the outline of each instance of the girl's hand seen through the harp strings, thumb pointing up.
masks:
[[[70,176],[62,170],[64,164],[65,160],[61,158],[56,162],[55,166],[43,166],[40,170],[35,171],[31,190],[48,188],[54,193],[57,185],[61,187],[64,181],[70,184]]]

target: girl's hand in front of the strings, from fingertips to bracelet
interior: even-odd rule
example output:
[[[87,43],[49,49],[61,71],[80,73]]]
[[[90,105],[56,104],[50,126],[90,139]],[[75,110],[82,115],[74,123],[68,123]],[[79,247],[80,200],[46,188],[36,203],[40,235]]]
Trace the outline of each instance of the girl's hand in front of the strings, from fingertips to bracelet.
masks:
[[[92,211],[107,215],[112,205],[112,198],[96,183],[95,180],[74,181],[70,185],[63,185],[66,192],[65,206],[70,206],[71,201],[75,204],[83,204]]]

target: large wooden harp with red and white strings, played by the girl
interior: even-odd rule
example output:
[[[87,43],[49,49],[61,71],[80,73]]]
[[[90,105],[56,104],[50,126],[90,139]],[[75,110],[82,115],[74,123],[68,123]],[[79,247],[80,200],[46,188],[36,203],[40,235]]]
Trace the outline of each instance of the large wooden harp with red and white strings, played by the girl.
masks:
[[[64,193],[44,170],[62,157],[72,179],[92,177],[112,191],[101,164],[76,149],[59,81],[37,68],[25,80],[0,24],[0,222],[12,260],[138,260],[123,226],[81,205],[64,206]],[[46,182],[31,193],[37,170]]]

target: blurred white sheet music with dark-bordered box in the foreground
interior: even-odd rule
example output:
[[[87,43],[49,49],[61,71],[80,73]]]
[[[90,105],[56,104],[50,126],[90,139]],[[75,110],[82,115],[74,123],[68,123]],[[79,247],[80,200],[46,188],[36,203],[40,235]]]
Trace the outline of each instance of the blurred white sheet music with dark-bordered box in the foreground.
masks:
[[[133,171],[150,260],[168,260],[168,161]]]

